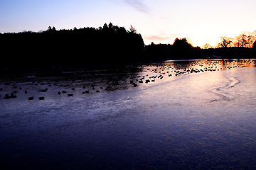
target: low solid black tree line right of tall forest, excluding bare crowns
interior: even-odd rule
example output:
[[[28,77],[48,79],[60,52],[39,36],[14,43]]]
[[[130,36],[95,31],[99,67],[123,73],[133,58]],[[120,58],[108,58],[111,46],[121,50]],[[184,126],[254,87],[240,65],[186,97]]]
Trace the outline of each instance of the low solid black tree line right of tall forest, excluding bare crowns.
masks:
[[[220,42],[221,43],[221,42]],[[174,44],[146,45],[144,54],[149,60],[193,60],[215,58],[255,58],[256,41],[252,47],[193,47],[186,38],[174,40]]]

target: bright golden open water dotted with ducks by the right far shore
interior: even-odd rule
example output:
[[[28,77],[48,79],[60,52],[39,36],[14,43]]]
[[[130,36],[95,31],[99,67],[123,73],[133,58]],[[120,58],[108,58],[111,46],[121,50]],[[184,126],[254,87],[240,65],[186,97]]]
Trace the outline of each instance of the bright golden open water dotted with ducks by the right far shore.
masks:
[[[142,66],[142,74],[138,80],[148,82],[164,82],[181,75],[198,74],[203,72],[220,72],[227,69],[256,67],[255,60],[181,60],[160,62]],[[151,81],[153,80],[153,81]],[[146,83],[147,84],[147,83]]]

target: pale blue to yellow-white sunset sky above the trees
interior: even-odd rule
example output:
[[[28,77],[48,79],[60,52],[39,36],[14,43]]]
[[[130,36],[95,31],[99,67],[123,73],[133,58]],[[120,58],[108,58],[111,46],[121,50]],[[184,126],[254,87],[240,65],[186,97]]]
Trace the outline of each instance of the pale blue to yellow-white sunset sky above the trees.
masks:
[[[130,25],[146,45],[187,38],[214,46],[256,30],[255,0],[0,0],[0,33]]]

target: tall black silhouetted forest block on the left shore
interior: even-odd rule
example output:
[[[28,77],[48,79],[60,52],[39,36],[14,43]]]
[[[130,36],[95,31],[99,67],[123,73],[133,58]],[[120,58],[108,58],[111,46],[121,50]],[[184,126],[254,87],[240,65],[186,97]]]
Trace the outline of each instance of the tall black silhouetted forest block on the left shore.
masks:
[[[1,67],[70,67],[142,60],[144,41],[131,26],[0,34]]]

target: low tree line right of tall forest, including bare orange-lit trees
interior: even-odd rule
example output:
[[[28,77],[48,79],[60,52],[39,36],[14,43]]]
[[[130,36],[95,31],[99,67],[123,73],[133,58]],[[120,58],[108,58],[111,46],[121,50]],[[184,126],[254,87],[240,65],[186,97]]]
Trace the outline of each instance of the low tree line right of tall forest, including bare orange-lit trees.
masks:
[[[146,45],[145,54],[151,60],[208,59],[208,58],[255,58],[256,30],[253,33],[241,33],[235,38],[220,37],[216,47],[208,43],[193,47],[186,38],[176,38],[172,45]],[[156,58],[157,57],[157,58]]]

